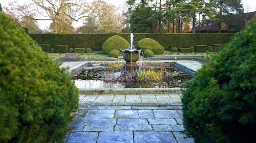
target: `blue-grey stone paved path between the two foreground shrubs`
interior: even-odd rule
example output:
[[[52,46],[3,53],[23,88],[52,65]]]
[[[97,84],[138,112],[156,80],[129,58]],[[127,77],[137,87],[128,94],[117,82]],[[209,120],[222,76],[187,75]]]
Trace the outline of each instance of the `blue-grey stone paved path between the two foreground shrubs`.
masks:
[[[79,95],[67,142],[194,142],[181,132],[180,99],[179,94]]]

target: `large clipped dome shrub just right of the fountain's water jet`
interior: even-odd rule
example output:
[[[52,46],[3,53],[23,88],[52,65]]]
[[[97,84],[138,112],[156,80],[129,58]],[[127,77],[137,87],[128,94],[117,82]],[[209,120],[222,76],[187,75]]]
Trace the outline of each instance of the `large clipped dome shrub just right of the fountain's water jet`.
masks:
[[[149,49],[154,52],[154,54],[163,54],[164,48],[157,41],[151,38],[144,38],[138,41],[139,49],[145,50]]]

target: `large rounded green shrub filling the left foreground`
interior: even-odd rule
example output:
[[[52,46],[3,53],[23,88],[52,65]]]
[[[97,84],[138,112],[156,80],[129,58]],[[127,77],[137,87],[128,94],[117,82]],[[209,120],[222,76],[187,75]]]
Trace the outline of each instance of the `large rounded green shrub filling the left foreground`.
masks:
[[[78,90],[13,21],[0,12],[0,142],[61,142]]]

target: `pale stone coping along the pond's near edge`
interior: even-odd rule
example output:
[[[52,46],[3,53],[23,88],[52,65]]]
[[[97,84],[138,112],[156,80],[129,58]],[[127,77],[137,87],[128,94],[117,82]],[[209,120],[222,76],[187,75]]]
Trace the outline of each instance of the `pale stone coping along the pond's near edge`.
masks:
[[[80,94],[180,94],[183,88],[79,88]]]

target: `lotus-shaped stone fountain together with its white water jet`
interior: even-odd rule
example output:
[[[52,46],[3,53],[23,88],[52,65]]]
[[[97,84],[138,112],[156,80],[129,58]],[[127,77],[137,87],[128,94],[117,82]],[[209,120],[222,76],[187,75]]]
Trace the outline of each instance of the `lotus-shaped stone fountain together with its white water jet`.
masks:
[[[135,49],[133,45],[133,34],[131,33],[130,49],[125,49],[120,51],[123,52],[123,59],[126,62],[126,64],[136,64],[136,62],[139,60],[140,52],[142,50]]]

